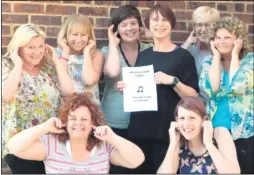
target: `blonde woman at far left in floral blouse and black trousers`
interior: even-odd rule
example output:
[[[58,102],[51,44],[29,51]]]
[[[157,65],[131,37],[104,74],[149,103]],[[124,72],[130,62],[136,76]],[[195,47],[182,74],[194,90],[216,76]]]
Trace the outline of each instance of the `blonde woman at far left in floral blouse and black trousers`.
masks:
[[[37,25],[21,25],[2,59],[2,157],[14,174],[45,173],[44,164],[9,154],[8,140],[56,116],[60,94],[74,92],[67,69],[45,37]]]

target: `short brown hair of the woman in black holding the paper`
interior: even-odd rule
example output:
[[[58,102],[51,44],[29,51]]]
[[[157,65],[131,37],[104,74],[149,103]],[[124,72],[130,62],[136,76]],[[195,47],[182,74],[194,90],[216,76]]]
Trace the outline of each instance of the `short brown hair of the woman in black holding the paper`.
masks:
[[[172,11],[172,9],[170,8],[169,5],[165,5],[165,4],[156,4],[155,6],[153,6],[152,8],[149,9],[148,13],[146,14],[144,23],[146,25],[146,27],[148,29],[150,29],[150,17],[151,14],[153,13],[160,13],[164,18],[167,18],[168,21],[171,24],[172,29],[176,26],[176,17],[174,12]]]

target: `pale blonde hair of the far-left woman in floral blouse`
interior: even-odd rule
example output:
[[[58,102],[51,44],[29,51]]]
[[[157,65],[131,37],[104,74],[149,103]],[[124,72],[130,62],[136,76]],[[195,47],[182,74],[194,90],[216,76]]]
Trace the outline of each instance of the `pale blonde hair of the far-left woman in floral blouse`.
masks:
[[[46,34],[38,25],[28,23],[19,26],[7,46],[4,57],[9,57],[12,50],[25,46],[33,37],[39,36],[46,38]]]

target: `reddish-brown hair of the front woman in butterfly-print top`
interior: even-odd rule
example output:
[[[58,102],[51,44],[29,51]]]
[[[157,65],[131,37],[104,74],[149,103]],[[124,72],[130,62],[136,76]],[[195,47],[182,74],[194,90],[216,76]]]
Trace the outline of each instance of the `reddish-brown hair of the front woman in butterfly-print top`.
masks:
[[[182,107],[184,109],[193,111],[204,118],[206,115],[206,109],[204,103],[199,99],[199,97],[182,97],[179,103],[177,104],[174,112],[174,116],[177,117],[178,109]]]

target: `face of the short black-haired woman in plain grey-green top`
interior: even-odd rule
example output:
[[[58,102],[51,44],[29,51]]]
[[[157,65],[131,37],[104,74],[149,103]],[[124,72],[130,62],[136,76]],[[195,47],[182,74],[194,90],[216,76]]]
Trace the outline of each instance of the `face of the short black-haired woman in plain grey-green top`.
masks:
[[[118,25],[118,32],[125,42],[133,42],[139,38],[140,26],[135,17],[129,17]]]

